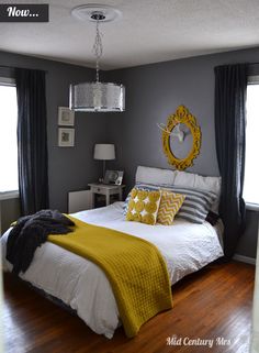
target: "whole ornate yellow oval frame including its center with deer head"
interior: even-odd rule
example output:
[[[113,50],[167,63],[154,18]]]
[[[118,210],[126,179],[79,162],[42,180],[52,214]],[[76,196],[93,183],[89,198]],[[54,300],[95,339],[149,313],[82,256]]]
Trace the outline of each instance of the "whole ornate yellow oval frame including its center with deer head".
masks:
[[[201,129],[184,106],[179,106],[176,113],[168,117],[162,129],[162,147],[168,163],[179,170],[190,167],[199,155]]]

